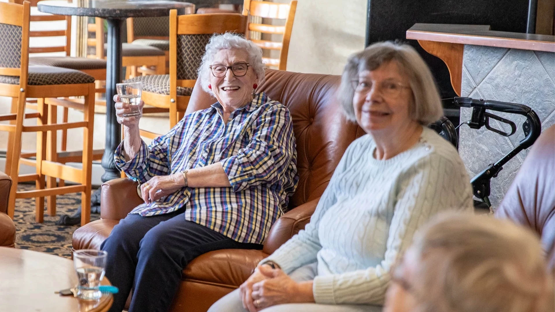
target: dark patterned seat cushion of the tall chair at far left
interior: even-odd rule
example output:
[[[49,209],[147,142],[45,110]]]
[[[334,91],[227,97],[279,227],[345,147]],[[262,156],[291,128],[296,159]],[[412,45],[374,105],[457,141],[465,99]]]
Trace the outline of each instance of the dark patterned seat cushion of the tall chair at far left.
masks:
[[[0,83],[19,84],[18,76],[0,76]],[[94,78],[75,69],[52,66],[29,66],[29,85],[94,83]]]

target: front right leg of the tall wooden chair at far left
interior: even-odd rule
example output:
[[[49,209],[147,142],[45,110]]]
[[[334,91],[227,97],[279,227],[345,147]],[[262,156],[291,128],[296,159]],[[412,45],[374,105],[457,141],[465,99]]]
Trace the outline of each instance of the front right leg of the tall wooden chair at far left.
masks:
[[[83,129],[83,169],[82,183],[85,190],[81,193],[81,225],[90,222],[90,193],[93,169],[93,127],[94,127],[94,85],[90,85],[89,95],[85,97],[84,120],[87,127]]]

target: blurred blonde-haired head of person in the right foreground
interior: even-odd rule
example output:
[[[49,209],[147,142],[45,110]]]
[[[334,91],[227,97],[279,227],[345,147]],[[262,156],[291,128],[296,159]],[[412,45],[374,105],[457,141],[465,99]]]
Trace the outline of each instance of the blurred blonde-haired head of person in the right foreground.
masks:
[[[384,312],[552,312],[553,280],[528,229],[443,214],[392,270]]]

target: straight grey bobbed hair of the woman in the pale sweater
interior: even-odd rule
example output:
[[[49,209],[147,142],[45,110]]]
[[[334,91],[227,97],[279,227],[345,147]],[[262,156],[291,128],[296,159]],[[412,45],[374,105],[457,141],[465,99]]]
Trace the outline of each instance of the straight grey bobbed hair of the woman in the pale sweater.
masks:
[[[351,81],[359,79],[362,71],[374,71],[382,64],[395,61],[406,74],[412,90],[413,102],[409,104],[409,115],[422,125],[435,122],[443,115],[440,95],[430,69],[418,52],[408,44],[397,42],[377,42],[349,57],[341,76],[338,98],[345,115],[355,119],[352,99],[355,90]]]

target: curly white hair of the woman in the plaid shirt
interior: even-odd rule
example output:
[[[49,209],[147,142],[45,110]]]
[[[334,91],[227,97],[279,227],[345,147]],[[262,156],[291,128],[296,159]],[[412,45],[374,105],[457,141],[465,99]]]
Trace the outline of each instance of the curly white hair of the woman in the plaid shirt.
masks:
[[[210,84],[210,65],[214,60],[214,56],[220,50],[233,48],[245,50],[247,52],[250,67],[253,68],[256,77],[258,77],[257,83],[262,84],[264,82],[265,69],[264,63],[262,62],[262,49],[259,46],[256,46],[256,44],[245,39],[240,34],[229,32],[214,34],[214,36],[210,38],[210,42],[206,44],[206,52],[204,53],[203,60],[198,70],[200,85],[206,92],[214,94],[212,90],[208,88],[208,84]]]

